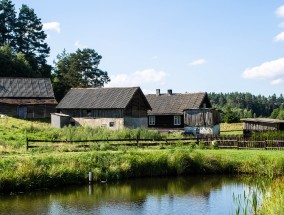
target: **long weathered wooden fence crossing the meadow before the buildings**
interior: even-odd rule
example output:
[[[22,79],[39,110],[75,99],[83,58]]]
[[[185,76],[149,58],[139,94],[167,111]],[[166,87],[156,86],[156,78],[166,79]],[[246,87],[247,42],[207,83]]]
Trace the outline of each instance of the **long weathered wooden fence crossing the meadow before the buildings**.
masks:
[[[164,139],[95,139],[95,140],[33,140],[26,138],[26,149],[41,147],[33,143],[68,143],[78,144],[81,147],[90,147],[92,144],[108,143],[112,146],[137,146],[149,147],[158,145],[188,145],[191,143],[204,144],[205,147],[210,147],[215,144],[220,149],[284,149],[284,138],[282,139],[265,139],[262,137],[246,138],[244,136],[208,136],[208,137],[191,137],[191,138],[164,138]]]

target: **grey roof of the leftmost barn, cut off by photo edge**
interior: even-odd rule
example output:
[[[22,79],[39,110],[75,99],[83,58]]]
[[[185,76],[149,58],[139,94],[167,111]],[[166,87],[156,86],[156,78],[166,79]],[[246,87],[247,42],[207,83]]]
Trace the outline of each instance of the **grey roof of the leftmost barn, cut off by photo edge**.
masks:
[[[0,78],[0,98],[54,98],[49,78]]]

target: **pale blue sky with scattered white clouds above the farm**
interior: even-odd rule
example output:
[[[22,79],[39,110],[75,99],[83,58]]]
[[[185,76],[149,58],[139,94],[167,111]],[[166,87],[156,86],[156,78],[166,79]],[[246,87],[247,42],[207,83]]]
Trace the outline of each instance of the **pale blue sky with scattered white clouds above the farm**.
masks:
[[[144,93],[284,94],[280,0],[12,0],[33,8],[51,48],[91,48],[106,87]]]

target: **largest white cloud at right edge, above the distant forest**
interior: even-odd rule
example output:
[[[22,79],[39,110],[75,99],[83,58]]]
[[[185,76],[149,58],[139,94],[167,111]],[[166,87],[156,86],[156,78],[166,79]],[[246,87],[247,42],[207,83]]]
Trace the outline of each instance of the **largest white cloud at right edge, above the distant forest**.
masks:
[[[274,79],[274,83],[277,82],[277,79],[283,76],[284,58],[268,61],[252,68],[247,68],[242,73],[242,77],[246,79]]]

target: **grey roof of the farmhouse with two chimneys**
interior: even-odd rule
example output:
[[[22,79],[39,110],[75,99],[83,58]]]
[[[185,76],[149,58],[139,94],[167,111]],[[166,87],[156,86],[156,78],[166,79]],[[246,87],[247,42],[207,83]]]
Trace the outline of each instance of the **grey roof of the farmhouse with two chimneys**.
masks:
[[[183,114],[187,109],[202,108],[203,103],[210,108],[211,103],[208,100],[207,93],[173,93],[168,94],[149,94],[146,95],[152,111],[148,111],[148,115],[179,115]]]

